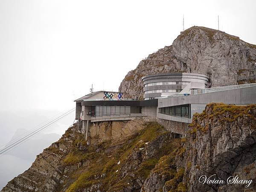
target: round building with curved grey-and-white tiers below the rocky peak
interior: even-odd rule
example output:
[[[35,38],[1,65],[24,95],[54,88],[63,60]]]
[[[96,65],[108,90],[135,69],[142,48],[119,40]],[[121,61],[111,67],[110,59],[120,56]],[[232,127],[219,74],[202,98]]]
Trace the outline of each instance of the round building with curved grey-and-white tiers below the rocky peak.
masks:
[[[207,86],[209,78],[198,73],[161,73],[142,78],[144,99],[155,99]]]

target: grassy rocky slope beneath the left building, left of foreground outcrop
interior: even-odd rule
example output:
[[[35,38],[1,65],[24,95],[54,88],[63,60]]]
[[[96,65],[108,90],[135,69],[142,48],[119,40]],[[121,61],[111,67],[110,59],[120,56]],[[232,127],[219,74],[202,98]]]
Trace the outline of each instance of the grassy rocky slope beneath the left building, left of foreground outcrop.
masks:
[[[142,119],[94,123],[87,142],[79,127],[69,128],[1,192],[138,191],[159,158],[180,143]]]

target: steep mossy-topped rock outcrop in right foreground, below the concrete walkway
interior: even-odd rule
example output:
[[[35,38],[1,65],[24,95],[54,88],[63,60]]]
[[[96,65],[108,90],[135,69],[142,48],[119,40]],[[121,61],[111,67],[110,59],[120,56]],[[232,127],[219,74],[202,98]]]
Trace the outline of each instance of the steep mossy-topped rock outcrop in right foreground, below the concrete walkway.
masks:
[[[175,153],[158,161],[141,192],[255,191],[256,105],[209,104],[195,114],[181,142]],[[224,182],[204,184],[199,182],[202,175]],[[236,175],[252,183],[228,185],[228,177]]]

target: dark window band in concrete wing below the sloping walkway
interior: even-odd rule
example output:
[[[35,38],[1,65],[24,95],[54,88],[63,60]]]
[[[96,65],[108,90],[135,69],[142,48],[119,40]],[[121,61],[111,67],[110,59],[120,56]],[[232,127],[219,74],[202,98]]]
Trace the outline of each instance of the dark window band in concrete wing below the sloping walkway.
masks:
[[[159,108],[158,112],[166,115],[171,115],[171,116],[180,116],[180,117],[185,117],[189,119],[191,118],[190,104]]]

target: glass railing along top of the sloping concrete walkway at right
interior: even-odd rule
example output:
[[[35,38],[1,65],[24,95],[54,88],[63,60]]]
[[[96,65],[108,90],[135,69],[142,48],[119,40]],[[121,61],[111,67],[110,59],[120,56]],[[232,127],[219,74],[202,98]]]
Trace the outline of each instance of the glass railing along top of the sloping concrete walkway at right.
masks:
[[[254,86],[256,86],[256,83],[230,85],[230,86],[224,86],[224,87],[212,87],[212,88],[206,88],[206,89],[195,89],[195,90],[191,90],[191,95],[197,95],[201,93],[212,93],[216,91],[239,89],[239,88],[254,87]]]

